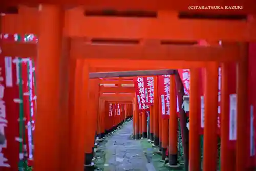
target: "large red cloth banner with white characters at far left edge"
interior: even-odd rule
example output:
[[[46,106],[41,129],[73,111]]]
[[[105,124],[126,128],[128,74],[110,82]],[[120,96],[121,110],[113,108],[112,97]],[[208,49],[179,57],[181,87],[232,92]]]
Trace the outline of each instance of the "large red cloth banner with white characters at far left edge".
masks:
[[[0,131],[5,135],[5,144],[0,145],[0,170],[18,170],[23,159],[22,132],[19,133],[19,63],[12,57],[0,54]],[[17,60],[16,60],[17,61]]]

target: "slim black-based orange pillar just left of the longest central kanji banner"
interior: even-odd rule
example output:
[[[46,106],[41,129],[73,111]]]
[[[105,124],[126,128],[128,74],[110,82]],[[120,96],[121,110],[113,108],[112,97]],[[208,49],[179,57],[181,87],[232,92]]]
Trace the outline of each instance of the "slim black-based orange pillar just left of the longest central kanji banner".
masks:
[[[154,76],[154,144],[153,147],[159,146],[159,124],[158,124],[158,79],[157,76]]]

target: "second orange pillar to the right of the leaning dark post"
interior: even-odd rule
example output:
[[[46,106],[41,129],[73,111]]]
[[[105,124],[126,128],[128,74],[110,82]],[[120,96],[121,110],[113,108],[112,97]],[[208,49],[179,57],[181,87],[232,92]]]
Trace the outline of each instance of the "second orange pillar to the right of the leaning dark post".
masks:
[[[218,63],[208,62],[205,72],[203,170],[217,169]]]

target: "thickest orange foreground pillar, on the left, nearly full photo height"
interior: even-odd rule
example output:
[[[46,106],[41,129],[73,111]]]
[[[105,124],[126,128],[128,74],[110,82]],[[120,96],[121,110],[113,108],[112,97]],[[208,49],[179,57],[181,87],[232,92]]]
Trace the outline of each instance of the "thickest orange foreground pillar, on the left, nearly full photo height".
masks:
[[[62,149],[69,140],[62,141],[61,129],[65,126],[61,108],[60,72],[63,58],[62,28],[63,11],[57,5],[42,5],[40,8],[40,35],[37,58],[37,114],[34,137],[34,170],[61,170]],[[46,26],[51,27],[46,27]],[[54,28],[54,29],[53,29]],[[63,94],[62,94],[63,93]],[[68,92],[67,92],[68,93]],[[66,109],[67,110],[67,109]],[[68,133],[67,133],[68,134]],[[46,143],[49,142],[49,143]],[[63,143],[62,145],[59,145]],[[66,155],[68,154],[68,151]],[[64,161],[64,160],[63,160]],[[66,163],[69,164],[69,163]]]

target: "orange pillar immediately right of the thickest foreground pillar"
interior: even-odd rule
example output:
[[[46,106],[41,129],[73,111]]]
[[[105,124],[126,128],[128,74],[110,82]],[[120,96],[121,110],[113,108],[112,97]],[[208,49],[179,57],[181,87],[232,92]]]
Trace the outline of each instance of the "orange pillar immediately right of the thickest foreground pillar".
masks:
[[[77,60],[75,73],[74,115],[71,116],[71,160],[72,168],[83,169],[86,151],[86,117],[88,108],[89,67],[82,59]]]

